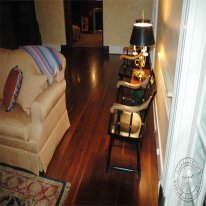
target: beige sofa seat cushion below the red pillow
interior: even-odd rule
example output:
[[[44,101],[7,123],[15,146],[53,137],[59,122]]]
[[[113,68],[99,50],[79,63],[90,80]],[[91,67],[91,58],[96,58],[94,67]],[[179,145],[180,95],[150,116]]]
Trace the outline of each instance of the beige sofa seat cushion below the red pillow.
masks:
[[[31,133],[31,117],[16,104],[12,112],[0,110],[0,134],[27,141]]]

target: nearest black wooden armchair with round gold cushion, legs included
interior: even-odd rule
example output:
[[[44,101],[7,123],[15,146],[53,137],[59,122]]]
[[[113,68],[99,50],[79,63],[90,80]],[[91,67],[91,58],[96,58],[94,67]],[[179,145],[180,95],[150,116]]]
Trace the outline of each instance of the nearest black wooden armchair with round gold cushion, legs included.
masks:
[[[145,94],[146,99],[143,104],[139,106],[127,106],[120,103],[115,103],[111,107],[111,115],[108,124],[108,135],[110,137],[110,143],[107,155],[106,173],[110,169],[135,172],[138,174],[138,178],[141,179],[141,141],[145,134],[148,111],[156,95],[156,92],[156,81],[154,79],[153,81],[151,81],[150,87]],[[136,145],[137,166],[135,169],[110,165],[112,147],[114,146],[115,140]]]

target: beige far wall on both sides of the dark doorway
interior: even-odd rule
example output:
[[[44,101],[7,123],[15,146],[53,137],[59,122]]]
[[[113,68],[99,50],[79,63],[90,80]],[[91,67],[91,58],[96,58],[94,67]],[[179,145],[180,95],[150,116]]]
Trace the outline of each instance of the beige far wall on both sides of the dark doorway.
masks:
[[[65,45],[65,19],[63,0],[35,0],[36,16],[43,44]],[[103,45],[122,52],[128,46],[132,26],[141,18],[152,19],[152,0],[104,0],[103,1]]]

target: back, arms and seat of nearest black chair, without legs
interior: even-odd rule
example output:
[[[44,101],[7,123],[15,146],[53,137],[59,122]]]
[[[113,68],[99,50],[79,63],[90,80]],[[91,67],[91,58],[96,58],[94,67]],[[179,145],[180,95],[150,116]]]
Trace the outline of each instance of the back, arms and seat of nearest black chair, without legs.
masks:
[[[108,133],[116,138],[143,138],[146,128],[148,111],[156,95],[156,81],[151,82],[148,99],[139,106],[126,106],[115,103],[110,109],[112,113],[109,121]]]

